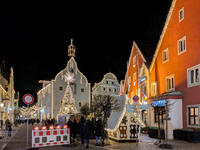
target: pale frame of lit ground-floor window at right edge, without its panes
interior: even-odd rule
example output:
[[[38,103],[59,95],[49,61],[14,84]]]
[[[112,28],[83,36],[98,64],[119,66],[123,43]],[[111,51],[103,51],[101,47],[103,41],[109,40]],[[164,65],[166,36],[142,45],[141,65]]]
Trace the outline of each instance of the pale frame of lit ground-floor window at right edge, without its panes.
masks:
[[[198,108],[198,125],[191,125],[190,124],[190,122],[189,122],[190,121],[190,119],[189,119],[189,117],[190,117],[189,116],[189,114],[190,114],[189,108]],[[187,105],[186,111],[187,111],[187,127],[195,127],[195,128],[200,127],[200,105]],[[195,119],[194,119],[194,121],[195,121]]]

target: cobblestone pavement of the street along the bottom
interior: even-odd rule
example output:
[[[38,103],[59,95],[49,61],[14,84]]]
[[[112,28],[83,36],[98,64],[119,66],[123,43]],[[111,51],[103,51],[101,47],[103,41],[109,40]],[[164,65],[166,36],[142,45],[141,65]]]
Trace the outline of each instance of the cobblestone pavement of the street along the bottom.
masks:
[[[41,126],[41,125],[40,125]],[[31,147],[31,131],[34,126],[29,125],[29,147]],[[4,150],[25,150],[27,145],[27,128],[26,125],[18,126],[13,128],[12,137],[7,136],[7,131],[2,131],[2,134],[5,135],[3,139],[0,139],[0,144],[3,146]],[[165,150],[158,148],[158,145],[154,143],[157,142],[157,139],[149,138],[148,134],[141,134],[140,141],[138,146],[134,142],[115,142],[109,140],[110,146],[95,146],[95,139],[90,139],[90,150]],[[163,143],[164,141],[162,141]],[[108,142],[105,142],[108,143]],[[173,145],[175,150],[200,150],[200,143],[188,143],[185,141],[171,140],[168,141],[169,144]],[[68,145],[69,146],[69,145]],[[2,147],[1,147],[2,148]],[[41,147],[39,150],[82,150],[85,149],[85,146],[81,145],[80,142],[74,142],[73,147],[64,147],[64,146],[49,146]]]

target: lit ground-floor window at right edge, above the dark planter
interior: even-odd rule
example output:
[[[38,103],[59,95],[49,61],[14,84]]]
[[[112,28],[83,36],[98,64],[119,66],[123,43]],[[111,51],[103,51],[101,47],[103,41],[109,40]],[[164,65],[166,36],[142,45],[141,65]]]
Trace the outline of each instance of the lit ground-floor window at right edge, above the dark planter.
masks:
[[[200,105],[188,105],[187,106],[187,126],[195,127],[199,126],[199,108]]]

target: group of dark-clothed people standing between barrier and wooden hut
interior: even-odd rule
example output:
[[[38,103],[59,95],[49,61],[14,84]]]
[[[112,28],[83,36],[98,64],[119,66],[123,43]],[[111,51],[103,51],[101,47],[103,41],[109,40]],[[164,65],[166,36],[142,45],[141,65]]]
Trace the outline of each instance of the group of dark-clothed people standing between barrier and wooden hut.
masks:
[[[73,137],[73,142],[76,139],[78,132],[81,137],[81,144],[84,145],[84,143],[86,143],[86,148],[89,148],[89,139],[91,138],[92,131],[94,131],[96,137],[96,146],[99,145],[98,140],[104,144],[103,140],[101,139],[103,126],[99,118],[96,118],[94,124],[90,121],[89,117],[87,117],[85,120],[82,116],[80,121],[74,119],[74,122],[69,119],[67,126],[70,128],[70,137]],[[70,142],[72,142],[71,139]]]

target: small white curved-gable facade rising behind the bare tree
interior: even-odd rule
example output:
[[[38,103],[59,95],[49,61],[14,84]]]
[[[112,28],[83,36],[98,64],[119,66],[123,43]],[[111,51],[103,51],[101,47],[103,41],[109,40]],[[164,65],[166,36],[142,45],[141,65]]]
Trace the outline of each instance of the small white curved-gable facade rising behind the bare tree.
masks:
[[[111,96],[120,95],[120,84],[113,73],[107,73],[104,75],[101,82],[95,83],[92,88],[92,97],[96,94],[110,94]]]

